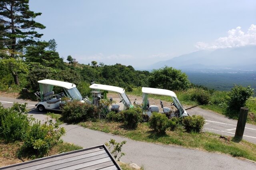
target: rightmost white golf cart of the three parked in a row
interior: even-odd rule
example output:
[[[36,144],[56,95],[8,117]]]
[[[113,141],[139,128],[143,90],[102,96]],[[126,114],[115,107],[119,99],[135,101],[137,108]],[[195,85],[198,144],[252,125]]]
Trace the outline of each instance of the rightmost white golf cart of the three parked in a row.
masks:
[[[175,106],[176,109],[172,110],[169,107],[164,107],[162,101],[160,101],[160,105],[163,109],[162,112],[159,112],[159,108],[156,105],[150,105],[148,100],[148,95],[165,95],[172,97],[172,103],[171,106]],[[188,113],[186,110],[182,107],[180,104],[180,101],[178,100],[176,94],[173,91],[166,90],[166,89],[155,89],[155,88],[149,88],[149,87],[142,87],[142,109],[146,110],[145,115],[150,117],[152,115],[152,112],[159,112],[166,114],[168,118],[171,117],[185,117],[188,116]],[[145,118],[146,119],[146,118]]]

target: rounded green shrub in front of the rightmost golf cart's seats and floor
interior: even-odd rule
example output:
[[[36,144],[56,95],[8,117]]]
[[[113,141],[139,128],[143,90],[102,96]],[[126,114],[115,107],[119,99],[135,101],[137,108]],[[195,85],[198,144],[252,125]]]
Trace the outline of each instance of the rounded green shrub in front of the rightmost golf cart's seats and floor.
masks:
[[[172,124],[172,122],[168,120],[165,114],[161,113],[152,113],[148,121],[148,125],[150,128],[153,128],[156,132],[164,134],[166,129]]]

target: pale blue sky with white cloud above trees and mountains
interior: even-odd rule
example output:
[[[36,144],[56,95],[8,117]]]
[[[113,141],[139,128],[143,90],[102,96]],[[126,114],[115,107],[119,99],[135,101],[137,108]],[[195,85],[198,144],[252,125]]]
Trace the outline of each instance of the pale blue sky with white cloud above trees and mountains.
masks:
[[[256,45],[255,0],[30,0],[60,57],[143,68],[202,49]]]

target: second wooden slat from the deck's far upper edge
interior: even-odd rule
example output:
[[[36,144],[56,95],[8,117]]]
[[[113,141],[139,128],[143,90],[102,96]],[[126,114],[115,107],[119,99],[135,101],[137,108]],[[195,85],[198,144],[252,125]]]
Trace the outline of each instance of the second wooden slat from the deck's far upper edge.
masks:
[[[100,150],[97,152],[91,152],[88,154],[82,154],[82,155],[78,155],[78,156],[72,156],[70,158],[65,158],[65,159],[60,159],[60,160],[56,160],[56,161],[52,161],[52,162],[46,162],[44,164],[38,164],[35,166],[30,166],[27,168],[22,168],[20,170],[36,170],[36,169],[41,169],[41,168],[46,168],[48,166],[54,166],[54,165],[58,165],[58,164],[62,164],[62,163],[66,163],[66,162],[72,162],[74,160],[80,160],[80,159],[85,159],[91,156],[96,156],[96,155],[100,155],[100,154],[107,154],[105,150]]]

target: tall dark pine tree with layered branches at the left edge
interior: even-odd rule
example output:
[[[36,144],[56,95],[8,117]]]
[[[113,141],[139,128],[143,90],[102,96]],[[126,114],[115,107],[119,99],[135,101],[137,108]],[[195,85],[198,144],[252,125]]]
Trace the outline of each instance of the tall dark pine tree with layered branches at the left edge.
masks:
[[[0,1],[0,36],[2,44],[8,49],[10,57],[15,58],[17,50],[33,44],[43,34],[38,34],[35,28],[44,29],[45,26],[35,22],[34,18],[42,13],[29,10],[29,0],[1,0]],[[11,71],[14,81],[19,84],[18,73]]]

